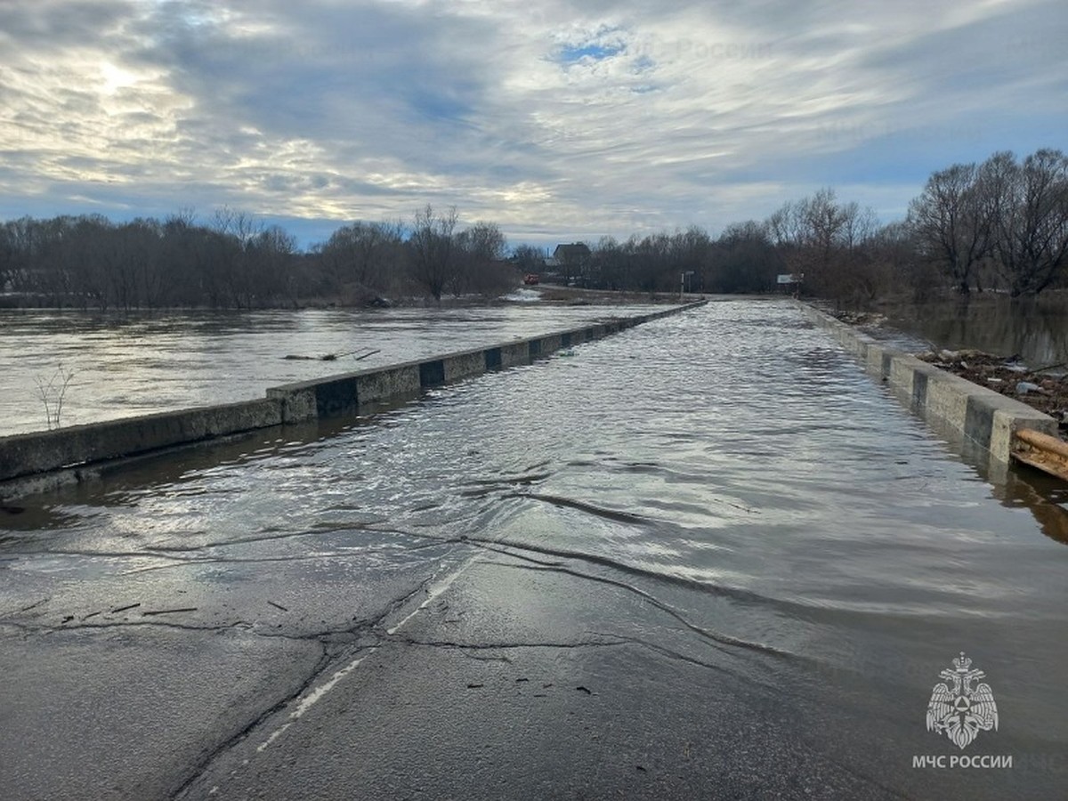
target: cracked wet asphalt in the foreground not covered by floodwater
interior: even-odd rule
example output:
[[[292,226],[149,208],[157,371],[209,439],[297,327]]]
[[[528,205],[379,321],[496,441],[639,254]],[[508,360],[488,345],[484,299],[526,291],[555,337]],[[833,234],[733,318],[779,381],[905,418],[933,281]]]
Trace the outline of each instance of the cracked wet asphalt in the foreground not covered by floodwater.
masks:
[[[695,649],[596,567],[472,550],[316,637],[6,637],[5,798],[900,797],[776,687],[773,654]]]

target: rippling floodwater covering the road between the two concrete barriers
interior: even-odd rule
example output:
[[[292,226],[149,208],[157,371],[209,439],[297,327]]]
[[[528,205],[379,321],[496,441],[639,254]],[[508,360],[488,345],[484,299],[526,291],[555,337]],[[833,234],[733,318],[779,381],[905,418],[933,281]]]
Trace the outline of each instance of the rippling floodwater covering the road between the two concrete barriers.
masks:
[[[282,350],[352,342],[293,334]],[[20,503],[0,517],[0,611],[155,595],[194,607],[190,625],[255,628],[269,598],[307,634],[342,614],[337,593],[446,576],[492,544],[625,588],[626,637],[714,668],[709,693],[717,675],[766,693],[788,710],[780,742],[886,797],[1068,786],[1068,496],[991,483],[789,302],[713,302],[372,419]],[[596,629],[602,612],[567,614]],[[962,753],[925,726],[960,651],[1001,716],[963,753],[1011,769],[912,767]]]

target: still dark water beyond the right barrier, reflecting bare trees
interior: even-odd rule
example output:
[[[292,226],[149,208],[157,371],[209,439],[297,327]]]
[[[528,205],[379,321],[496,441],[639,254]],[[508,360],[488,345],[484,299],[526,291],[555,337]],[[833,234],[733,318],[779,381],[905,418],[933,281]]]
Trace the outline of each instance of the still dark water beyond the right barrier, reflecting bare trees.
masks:
[[[1019,355],[1039,367],[1068,362],[1068,298],[973,298],[882,310],[888,324],[939,347]]]

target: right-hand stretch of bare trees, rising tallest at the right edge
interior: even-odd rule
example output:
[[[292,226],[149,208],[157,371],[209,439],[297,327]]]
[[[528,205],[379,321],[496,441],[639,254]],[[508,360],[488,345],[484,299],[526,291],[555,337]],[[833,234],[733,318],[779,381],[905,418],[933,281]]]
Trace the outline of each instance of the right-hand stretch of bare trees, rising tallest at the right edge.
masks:
[[[595,287],[710,293],[768,292],[791,274],[806,294],[852,303],[946,289],[1037,295],[1068,286],[1068,157],[1002,152],[953,164],[889,224],[823,188],[716,238],[700,227],[606,237],[578,271]]]

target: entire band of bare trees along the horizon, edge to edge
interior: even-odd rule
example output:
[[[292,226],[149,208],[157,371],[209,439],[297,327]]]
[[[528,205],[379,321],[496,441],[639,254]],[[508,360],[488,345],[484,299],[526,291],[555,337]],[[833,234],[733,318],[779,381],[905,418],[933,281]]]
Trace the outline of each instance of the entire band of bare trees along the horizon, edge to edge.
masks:
[[[805,294],[851,303],[946,289],[1037,295],[1068,286],[1068,157],[1043,148],[1022,160],[1002,152],[953,164],[889,224],[824,188],[717,237],[698,226],[603,237],[569,246],[554,266],[529,245],[507,252],[496,224],[460,229],[455,208],[429,205],[407,221],[343,225],[305,252],[277,225],[226,208],[206,223],[190,211],[121,224],[22,218],[0,225],[0,288],[19,302],[101,311],[440,301],[497,295],[546,271],[588,288],[648,293],[765,293],[786,273],[803,277]]]

